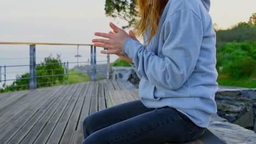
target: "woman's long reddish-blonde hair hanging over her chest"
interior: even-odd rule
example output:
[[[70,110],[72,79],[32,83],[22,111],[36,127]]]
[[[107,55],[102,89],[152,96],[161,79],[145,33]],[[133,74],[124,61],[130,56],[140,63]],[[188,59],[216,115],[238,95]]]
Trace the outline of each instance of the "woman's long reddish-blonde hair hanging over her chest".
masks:
[[[149,31],[148,44],[158,31],[160,17],[167,2],[168,0],[137,0],[141,19],[135,26],[135,34],[144,37],[144,31]]]

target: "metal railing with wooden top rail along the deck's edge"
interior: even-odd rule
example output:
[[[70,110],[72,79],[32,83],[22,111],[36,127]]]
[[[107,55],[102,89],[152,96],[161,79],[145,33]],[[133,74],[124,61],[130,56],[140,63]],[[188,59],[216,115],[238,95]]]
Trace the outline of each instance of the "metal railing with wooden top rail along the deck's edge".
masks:
[[[58,44],[58,43],[9,43],[9,42],[0,42],[0,45],[29,45],[30,46],[30,64],[29,65],[0,65],[0,83],[1,82],[7,82],[7,81],[17,81],[17,80],[29,80],[29,84],[27,85],[19,85],[19,86],[13,86],[13,87],[22,87],[22,86],[29,86],[30,89],[37,88],[37,85],[42,85],[45,83],[53,83],[53,81],[47,81],[47,82],[37,82],[38,79],[41,79],[43,77],[57,77],[57,76],[67,76],[67,75],[75,75],[75,74],[88,74],[88,71],[80,71],[79,73],[75,74],[69,74],[69,64],[71,63],[90,63],[90,80],[95,81],[97,79],[97,61],[96,61],[96,47],[91,44]],[[44,63],[45,65],[48,64],[61,64],[63,67],[63,74],[54,74],[54,71],[56,70],[62,70],[62,69],[48,69],[46,71],[51,71],[52,75],[37,75],[37,65],[36,64],[36,45],[66,45],[66,46],[90,46],[91,55],[90,55],[90,61],[89,62],[64,62],[64,63]],[[106,49],[105,49],[106,50]],[[78,56],[78,55],[77,55]],[[110,70],[110,57],[107,55],[107,61],[99,61],[99,62],[107,62],[107,68],[106,68],[106,78],[109,78],[109,70]],[[30,67],[29,77],[20,78],[20,79],[7,79],[7,68],[11,67]],[[102,72],[102,71],[98,71]],[[3,75],[3,78],[2,78]],[[54,79],[54,78],[53,78]],[[61,81],[59,81],[61,82]]]

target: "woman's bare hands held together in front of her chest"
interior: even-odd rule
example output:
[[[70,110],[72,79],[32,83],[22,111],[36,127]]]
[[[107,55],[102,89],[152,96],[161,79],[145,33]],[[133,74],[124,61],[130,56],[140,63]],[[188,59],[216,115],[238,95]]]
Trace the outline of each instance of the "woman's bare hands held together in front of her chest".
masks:
[[[115,54],[119,56],[121,59],[123,59],[124,61],[133,64],[132,59],[124,55],[123,45],[125,43],[125,40],[130,37],[138,41],[135,34],[132,31],[129,31],[129,34],[126,33],[123,29],[115,26],[114,23],[112,22],[109,23],[109,26],[110,28],[113,29],[113,32],[109,32],[109,33],[96,32],[95,33],[96,36],[107,38],[107,39],[92,39],[92,43],[94,43],[94,46],[97,46],[97,47],[108,48],[108,51],[101,51],[101,53]]]

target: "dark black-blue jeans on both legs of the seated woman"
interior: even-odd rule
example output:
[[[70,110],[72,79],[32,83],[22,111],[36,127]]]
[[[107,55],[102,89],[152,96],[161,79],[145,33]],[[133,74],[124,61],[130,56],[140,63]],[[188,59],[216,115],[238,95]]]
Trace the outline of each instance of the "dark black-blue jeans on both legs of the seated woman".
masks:
[[[171,107],[150,109],[135,100],[86,117],[83,144],[179,143],[197,139],[205,130]]]

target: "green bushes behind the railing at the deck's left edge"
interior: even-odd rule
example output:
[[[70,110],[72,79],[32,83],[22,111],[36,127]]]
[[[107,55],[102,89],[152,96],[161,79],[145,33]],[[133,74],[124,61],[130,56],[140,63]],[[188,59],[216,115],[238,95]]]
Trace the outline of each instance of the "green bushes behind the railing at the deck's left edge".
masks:
[[[58,83],[62,82],[63,80],[67,79],[63,76],[64,69],[61,64],[60,55],[57,55],[57,58],[53,56],[49,56],[44,58],[44,62],[41,62],[37,65],[37,87],[47,87],[57,85]],[[52,75],[59,75],[59,76],[52,76]],[[5,89],[1,89],[1,92],[13,92],[19,91],[29,88],[29,78],[30,73],[17,75],[16,81],[14,81],[10,86],[5,86]]]

